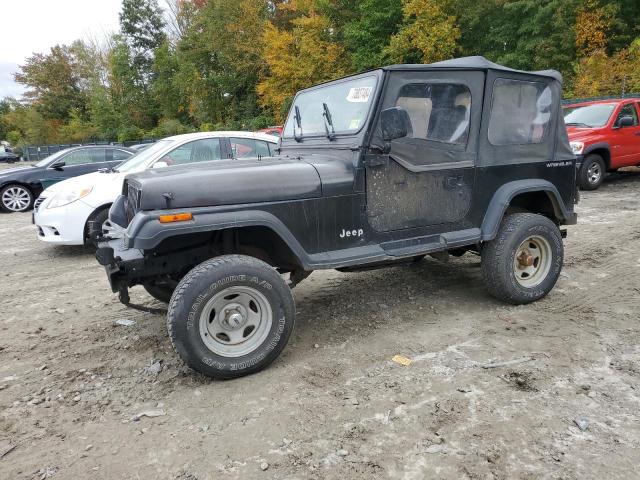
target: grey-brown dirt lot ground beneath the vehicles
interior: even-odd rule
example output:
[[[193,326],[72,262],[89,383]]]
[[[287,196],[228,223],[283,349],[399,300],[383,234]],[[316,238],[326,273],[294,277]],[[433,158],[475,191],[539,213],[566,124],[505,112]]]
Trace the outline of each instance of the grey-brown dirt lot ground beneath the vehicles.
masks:
[[[638,478],[640,174],[578,211],[538,303],[490,298],[473,255],[316,272],[280,359],[233,381],[183,366],[90,249],[0,215],[0,478]]]

